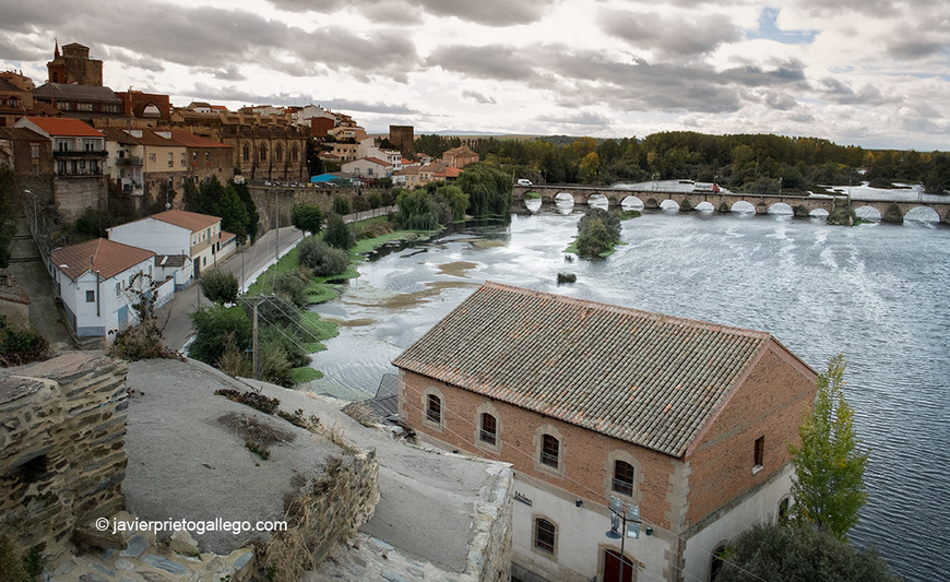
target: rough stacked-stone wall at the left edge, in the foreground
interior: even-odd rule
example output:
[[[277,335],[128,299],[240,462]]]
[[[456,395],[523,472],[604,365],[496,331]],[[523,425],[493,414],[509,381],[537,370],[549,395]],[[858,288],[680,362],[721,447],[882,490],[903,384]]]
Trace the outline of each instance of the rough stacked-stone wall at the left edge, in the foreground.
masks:
[[[0,370],[0,536],[17,550],[54,559],[122,507],[127,372],[88,353]]]

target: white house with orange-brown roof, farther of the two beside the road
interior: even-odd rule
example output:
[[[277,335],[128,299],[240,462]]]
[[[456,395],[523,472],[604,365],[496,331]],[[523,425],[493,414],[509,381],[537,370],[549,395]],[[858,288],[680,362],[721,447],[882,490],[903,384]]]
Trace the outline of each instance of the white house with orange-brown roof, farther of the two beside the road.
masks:
[[[236,249],[234,235],[223,233],[221,218],[183,210],[168,210],[114,226],[109,239],[149,249],[155,254],[185,254],[193,264],[192,276],[217,264]],[[180,287],[187,282],[176,282]]]

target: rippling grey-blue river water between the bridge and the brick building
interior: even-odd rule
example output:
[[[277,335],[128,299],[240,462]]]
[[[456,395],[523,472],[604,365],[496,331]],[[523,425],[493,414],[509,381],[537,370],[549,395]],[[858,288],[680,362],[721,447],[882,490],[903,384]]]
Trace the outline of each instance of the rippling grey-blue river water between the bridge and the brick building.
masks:
[[[657,211],[626,221],[608,259],[569,262],[582,210],[545,206],[384,250],[314,308],[342,328],[314,355],[326,378],[311,389],[371,395],[389,363],[486,280],[765,330],[818,371],[843,352],[871,449],[852,537],[907,580],[948,575],[950,228]],[[558,272],[577,283],[558,286]]]

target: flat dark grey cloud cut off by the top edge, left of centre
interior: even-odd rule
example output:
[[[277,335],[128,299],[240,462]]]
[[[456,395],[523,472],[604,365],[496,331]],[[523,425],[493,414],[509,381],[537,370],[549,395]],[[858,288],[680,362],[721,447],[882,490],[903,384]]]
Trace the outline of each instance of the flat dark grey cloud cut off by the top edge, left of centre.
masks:
[[[383,9],[390,15],[400,14],[400,9],[402,9],[404,14],[426,12],[437,16],[454,16],[459,20],[489,26],[508,26],[536,22],[544,15],[547,8],[558,3],[558,1],[560,0],[519,0],[516,2],[510,0],[480,0],[477,2],[471,0],[390,1],[384,3]],[[340,2],[331,0],[271,0],[271,4],[292,12],[334,13],[341,9]],[[368,17],[379,17],[378,0],[351,0],[345,5],[355,8]]]

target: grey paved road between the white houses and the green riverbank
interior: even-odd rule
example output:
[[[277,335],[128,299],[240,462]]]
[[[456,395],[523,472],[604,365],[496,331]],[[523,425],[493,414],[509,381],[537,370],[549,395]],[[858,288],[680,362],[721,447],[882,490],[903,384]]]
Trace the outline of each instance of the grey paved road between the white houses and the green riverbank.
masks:
[[[219,262],[217,268],[234,273],[242,284],[244,282],[250,284],[258,274],[276,260],[275,238],[280,238],[281,256],[284,256],[302,238],[300,230],[293,226],[286,226],[280,230],[280,237],[275,237],[274,230],[269,230],[253,246],[239,248],[237,252]],[[244,272],[244,281],[241,272]],[[176,351],[185,347],[192,334],[191,313],[200,305],[206,306],[207,298],[201,296],[199,285],[195,283],[187,289],[176,293],[170,301],[158,308],[158,321],[165,325],[163,335],[167,347]]]

